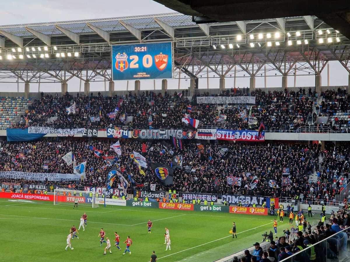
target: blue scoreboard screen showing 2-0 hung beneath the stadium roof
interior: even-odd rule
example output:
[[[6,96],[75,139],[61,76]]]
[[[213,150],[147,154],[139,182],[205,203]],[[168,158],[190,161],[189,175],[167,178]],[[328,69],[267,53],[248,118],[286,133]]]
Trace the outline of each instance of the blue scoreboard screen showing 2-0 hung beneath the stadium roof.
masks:
[[[112,45],[113,80],[173,77],[172,43]]]

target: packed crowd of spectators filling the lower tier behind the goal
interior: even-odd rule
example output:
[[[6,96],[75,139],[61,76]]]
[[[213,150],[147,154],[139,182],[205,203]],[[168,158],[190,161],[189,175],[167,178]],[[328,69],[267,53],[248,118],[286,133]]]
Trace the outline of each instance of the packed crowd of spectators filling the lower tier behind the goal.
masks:
[[[172,155],[174,148],[169,146],[164,150],[165,147],[160,140],[122,140],[120,143],[122,155],[118,158],[118,163],[120,163],[121,172],[126,177],[132,174],[137,184],[154,183],[157,185],[156,190],[176,189],[182,192],[276,197],[294,197],[303,194],[304,198],[331,202],[335,200],[335,195],[339,194],[343,186],[342,182],[345,183],[348,180],[350,162],[348,144],[339,146],[328,144],[326,150],[321,151],[320,145],[306,143],[209,143],[203,145],[204,150],[200,150],[196,142],[198,141],[184,140],[183,150],[175,150]],[[62,157],[72,151],[77,163],[87,161],[86,179],[77,185],[104,186],[108,173],[106,169],[109,167],[106,167],[102,157],[97,158],[93,154],[90,146],[102,150],[103,156],[117,156],[110,148],[112,143],[113,141],[107,139],[73,138],[42,139],[35,142],[2,141],[0,170],[71,173],[72,166],[67,166]],[[139,174],[138,167],[130,159],[132,151],[141,153],[143,143],[147,147],[146,176]],[[218,147],[223,145],[229,150],[225,158],[218,154]],[[24,154],[23,158],[20,153]],[[174,169],[174,185],[165,187],[156,180],[150,163],[160,162],[172,166],[173,156],[176,154],[183,156],[182,169]],[[319,161],[320,155],[324,157],[322,163]],[[16,159],[17,164],[14,163],[13,158]],[[43,169],[43,165],[47,165],[48,169]],[[289,175],[282,175],[283,168],[289,168]],[[310,182],[309,175],[316,172],[317,182]],[[255,187],[251,186],[253,176],[257,176],[258,180]],[[212,183],[213,177],[217,177],[221,182],[220,187],[215,187]],[[241,185],[229,185],[228,177],[240,177]],[[270,180],[275,181],[274,187],[269,186]]]

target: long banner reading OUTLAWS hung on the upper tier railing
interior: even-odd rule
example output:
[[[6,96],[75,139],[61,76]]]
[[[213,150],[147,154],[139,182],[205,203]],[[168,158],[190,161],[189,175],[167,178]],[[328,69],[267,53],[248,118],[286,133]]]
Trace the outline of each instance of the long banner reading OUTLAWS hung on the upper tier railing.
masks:
[[[195,138],[196,131],[182,130],[182,129],[142,129],[133,130],[131,132],[132,138],[141,139],[193,139]]]

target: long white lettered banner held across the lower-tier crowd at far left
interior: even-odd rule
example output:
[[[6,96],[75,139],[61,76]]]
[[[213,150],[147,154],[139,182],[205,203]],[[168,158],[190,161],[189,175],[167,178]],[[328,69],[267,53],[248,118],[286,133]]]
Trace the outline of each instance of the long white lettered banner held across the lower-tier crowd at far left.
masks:
[[[79,181],[82,178],[81,175],[77,174],[59,174],[59,173],[27,173],[20,171],[1,171],[0,178],[7,179],[25,179],[25,180],[34,180],[34,181]]]

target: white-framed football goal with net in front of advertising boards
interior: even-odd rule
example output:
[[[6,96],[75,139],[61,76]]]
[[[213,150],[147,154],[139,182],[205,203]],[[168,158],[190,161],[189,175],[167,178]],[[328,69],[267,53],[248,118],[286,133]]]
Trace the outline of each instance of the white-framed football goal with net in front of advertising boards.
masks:
[[[64,204],[73,206],[76,200],[78,201],[78,207],[83,205],[97,208],[99,204],[105,203],[104,197],[96,195],[93,192],[65,189],[54,190],[54,205]]]

